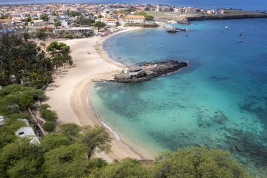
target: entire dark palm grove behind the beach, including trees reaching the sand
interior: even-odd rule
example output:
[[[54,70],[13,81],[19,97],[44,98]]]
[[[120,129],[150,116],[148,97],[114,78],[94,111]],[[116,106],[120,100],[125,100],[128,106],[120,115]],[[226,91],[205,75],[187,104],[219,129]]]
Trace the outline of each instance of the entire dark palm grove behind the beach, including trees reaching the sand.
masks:
[[[44,30],[37,30],[37,36],[40,39],[44,35]],[[30,36],[27,33],[1,35],[1,86],[23,82],[27,86],[41,88],[53,80],[55,67],[57,69],[63,65],[72,65],[69,46],[58,44],[58,49],[52,50],[53,56],[51,56],[41,50],[41,46],[28,41],[28,38]]]

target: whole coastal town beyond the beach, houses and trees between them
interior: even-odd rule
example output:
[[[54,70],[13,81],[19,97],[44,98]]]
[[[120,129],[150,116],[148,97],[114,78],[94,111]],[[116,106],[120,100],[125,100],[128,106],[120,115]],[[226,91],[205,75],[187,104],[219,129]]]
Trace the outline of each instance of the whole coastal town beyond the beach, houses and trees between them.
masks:
[[[223,14],[225,10],[150,4],[6,5],[0,6],[0,34],[29,32],[38,39],[105,35],[119,26],[157,27],[162,23],[155,19],[157,13],[184,17],[188,13]]]

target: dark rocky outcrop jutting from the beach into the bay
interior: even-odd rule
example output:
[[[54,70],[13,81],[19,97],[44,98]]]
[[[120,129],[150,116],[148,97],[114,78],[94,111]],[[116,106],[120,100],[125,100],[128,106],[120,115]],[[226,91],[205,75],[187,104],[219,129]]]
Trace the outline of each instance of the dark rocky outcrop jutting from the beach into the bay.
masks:
[[[186,67],[185,62],[178,62],[174,60],[151,62],[151,63],[137,63],[136,65],[127,66],[122,72],[116,74],[115,82],[144,82],[151,80],[153,77],[165,75],[171,72],[176,72],[181,68]]]

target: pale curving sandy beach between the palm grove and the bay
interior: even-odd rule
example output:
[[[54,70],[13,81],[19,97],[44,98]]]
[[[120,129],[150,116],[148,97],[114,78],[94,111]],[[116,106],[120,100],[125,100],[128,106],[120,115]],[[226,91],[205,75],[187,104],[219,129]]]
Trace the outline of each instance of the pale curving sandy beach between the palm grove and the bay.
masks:
[[[120,32],[136,29],[138,28],[131,27]],[[102,125],[98,115],[89,106],[90,84],[93,80],[111,79],[115,72],[119,72],[123,68],[121,63],[112,61],[102,49],[102,43],[108,37],[90,37],[63,41],[70,46],[74,65],[61,69],[61,72],[57,73],[54,82],[49,84],[46,89],[48,100],[45,102],[51,106],[52,110],[56,110],[58,113],[58,125],[65,123]],[[110,132],[110,136],[113,138],[112,151],[108,155],[99,153],[98,157],[104,158],[108,162],[128,157],[136,159],[152,158],[151,155],[136,153],[132,148],[123,144],[122,141],[115,139],[115,135],[109,129],[107,131]]]

